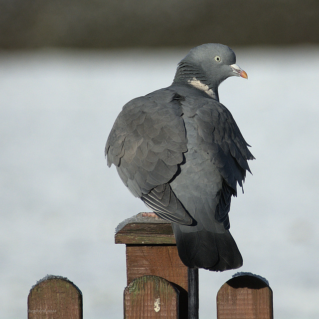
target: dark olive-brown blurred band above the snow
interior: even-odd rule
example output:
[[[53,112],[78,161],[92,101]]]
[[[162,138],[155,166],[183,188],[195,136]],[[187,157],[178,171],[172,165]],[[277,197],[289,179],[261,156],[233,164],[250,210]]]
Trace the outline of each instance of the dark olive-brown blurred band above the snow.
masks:
[[[316,0],[1,0],[0,47],[317,43]]]

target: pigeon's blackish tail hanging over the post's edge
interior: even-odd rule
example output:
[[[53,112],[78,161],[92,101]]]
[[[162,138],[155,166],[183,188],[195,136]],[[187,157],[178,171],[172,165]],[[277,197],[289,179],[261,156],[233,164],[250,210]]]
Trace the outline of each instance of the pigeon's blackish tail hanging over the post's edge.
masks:
[[[206,229],[183,232],[183,227],[185,226],[172,223],[178,255],[185,266],[224,271],[243,265],[243,259],[229,230],[222,234]]]

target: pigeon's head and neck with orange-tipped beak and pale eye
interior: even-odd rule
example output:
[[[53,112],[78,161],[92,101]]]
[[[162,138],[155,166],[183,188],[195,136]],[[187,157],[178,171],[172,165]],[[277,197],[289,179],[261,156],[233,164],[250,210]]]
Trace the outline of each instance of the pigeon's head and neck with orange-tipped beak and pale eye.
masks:
[[[190,85],[218,100],[218,86],[230,76],[247,79],[247,73],[236,64],[233,50],[207,43],[191,49],[178,63],[173,84]]]

